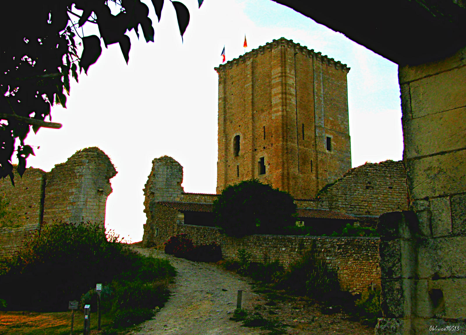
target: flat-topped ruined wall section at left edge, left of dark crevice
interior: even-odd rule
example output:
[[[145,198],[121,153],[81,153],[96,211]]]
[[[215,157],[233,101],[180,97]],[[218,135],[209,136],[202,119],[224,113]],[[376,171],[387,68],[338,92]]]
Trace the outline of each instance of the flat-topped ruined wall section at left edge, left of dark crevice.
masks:
[[[16,220],[11,226],[0,228],[0,257],[11,256],[28,233],[41,227],[43,195],[46,173],[41,169],[28,168],[23,176],[14,169],[14,184],[10,178],[0,180],[0,197],[9,202],[8,210]]]

